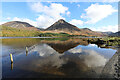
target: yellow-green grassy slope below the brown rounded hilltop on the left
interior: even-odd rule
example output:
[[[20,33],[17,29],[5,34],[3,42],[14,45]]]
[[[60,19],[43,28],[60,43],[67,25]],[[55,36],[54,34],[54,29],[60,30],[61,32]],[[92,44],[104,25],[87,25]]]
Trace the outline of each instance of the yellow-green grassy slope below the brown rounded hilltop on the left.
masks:
[[[2,37],[36,37],[40,34],[40,31],[29,31],[23,29],[17,29],[13,27],[0,26],[2,30]]]

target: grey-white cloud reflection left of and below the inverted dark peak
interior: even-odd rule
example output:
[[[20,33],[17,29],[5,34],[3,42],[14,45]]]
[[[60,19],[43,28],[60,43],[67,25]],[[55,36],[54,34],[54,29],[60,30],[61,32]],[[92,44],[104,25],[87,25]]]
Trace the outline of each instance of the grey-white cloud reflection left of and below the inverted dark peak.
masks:
[[[65,62],[60,58],[63,54],[59,54],[47,44],[37,45],[33,51],[37,51],[42,59],[38,60],[40,66],[51,65],[60,67]]]

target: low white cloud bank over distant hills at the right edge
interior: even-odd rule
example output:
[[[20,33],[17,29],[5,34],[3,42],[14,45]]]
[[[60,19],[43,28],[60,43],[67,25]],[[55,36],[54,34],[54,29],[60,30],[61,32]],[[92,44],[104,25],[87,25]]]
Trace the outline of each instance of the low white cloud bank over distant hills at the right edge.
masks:
[[[107,32],[107,31],[112,31],[112,32],[117,32],[118,31],[118,25],[108,25],[108,26],[102,26],[102,27],[96,27],[96,28],[90,28],[93,31],[102,31],[102,32]]]

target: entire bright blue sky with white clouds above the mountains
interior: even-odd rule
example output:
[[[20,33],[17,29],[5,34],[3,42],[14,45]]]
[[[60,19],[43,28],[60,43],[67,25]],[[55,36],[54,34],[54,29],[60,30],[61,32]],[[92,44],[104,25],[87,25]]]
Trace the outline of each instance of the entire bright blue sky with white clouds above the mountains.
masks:
[[[117,2],[2,2],[2,21],[47,28],[59,19],[93,31],[118,31]]]

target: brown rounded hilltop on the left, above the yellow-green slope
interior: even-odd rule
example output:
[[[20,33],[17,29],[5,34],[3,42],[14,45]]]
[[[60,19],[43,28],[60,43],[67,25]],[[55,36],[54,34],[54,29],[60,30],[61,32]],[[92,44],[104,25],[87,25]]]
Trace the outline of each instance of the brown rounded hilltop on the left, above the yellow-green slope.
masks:
[[[40,30],[29,23],[26,22],[21,22],[21,21],[11,21],[2,24],[2,26],[7,26],[7,27],[13,27],[13,28],[19,28],[19,29],[24,29],[24,30]]]

